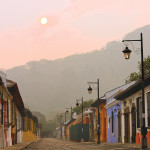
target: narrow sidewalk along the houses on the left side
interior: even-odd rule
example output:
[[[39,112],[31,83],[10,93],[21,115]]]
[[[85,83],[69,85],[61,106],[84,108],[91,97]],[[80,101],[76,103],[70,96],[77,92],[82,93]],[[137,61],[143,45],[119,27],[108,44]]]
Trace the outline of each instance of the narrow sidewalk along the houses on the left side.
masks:
[[[22,149],[26,148],[27,146],[29,146],[30,144],[38,142],[39,140],[14,144],[13,146],[9,146],[5,149],[0,149],[0,150],[22,150]]]

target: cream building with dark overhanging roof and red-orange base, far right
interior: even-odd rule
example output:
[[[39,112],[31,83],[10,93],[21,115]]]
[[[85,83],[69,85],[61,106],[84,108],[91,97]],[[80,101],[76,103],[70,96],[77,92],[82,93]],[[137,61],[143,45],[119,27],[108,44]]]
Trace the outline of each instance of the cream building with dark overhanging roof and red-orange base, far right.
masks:
[[[147,143],[150,145],[150,76],[145,77],[145,125],[148,128]],[[121,101],[121,134],[125,143],[141,143],[142,91],[141,81],[116,95]]]

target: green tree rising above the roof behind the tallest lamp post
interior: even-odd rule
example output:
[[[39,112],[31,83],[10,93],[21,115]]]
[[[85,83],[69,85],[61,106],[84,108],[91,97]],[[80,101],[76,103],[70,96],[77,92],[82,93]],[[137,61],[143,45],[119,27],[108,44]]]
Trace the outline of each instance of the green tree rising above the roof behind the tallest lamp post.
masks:
[[[137,81],[141,79],[142,76],[142,68],[141,68],[141,62],[138,62],[138,70],[139,72],[132,72],[127,79],[125,80],[126,83],[130,83],[132,81]],[[150,73],[150,56],[148,55],[146,58],[144,58],[144,74],[147,75]]]

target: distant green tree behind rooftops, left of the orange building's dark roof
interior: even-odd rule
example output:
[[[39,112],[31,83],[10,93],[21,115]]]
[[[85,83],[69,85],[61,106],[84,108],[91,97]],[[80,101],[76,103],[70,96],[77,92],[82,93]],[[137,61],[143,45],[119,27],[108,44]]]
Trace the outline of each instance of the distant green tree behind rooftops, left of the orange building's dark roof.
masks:
[[[83,101],[83,109],[91,107],[91,104],[93,104],[93,100],[89,101]],[[82,106],[79,105],[78,107],[73,108],[73,113],[76,112],[77,115],[80,114],[82,111]]]

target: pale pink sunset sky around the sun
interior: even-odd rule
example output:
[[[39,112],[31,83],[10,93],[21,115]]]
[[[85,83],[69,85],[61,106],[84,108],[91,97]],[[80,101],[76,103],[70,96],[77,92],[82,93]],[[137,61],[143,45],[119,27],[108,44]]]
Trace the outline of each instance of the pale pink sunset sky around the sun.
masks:
[[[149,0],[1,0],[0,68],[100,50],[148,25],[149,6]]]

